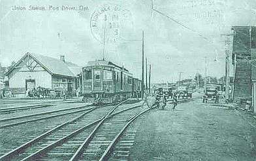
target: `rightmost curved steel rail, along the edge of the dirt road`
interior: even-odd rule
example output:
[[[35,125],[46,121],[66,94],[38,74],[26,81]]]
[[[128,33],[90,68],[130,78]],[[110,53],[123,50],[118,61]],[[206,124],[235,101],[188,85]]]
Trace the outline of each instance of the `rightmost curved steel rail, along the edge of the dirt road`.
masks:
[[[101,156],[101,158],[99,159],[99,161],[103,161],[103,160],[107,160],[108,155],[112,153],[112,150],[114,149],[114,146],[116,145],[116,143],[118,142],[118,140],[121,138],[121,135],[123,134],[123,132],[125,132],[125,130],[127,129],[127,127],[129,126],[129,124],[133,123],[133,121],[135,121],[135,119],[137,117],[139,117],[140,115],[146,113],[147,111],[152,110],[152,108],[148,108],[147,110],[144,110],[140,113],[138,113],[137,115],[133,116],[131,119],[129,119],[129,122],[127,124],[125,124],[125,126],[123,126],[123,128],[120,130],[120,132],[118,133],[118,135],[116,135],[116,137],[112,140],[112,142],[110,143],[110,145],[108,145],[108,147],[106,148],[106,150],[104,151],[103,155]]]

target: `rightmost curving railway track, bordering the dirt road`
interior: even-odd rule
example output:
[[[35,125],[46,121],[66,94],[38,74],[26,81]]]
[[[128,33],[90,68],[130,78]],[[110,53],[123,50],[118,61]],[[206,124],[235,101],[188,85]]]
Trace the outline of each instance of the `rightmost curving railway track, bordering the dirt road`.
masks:
[[[88,138],[80,145],[76,153],[69,161],[75,160],[108,160],[114,152],[114,147],[118,143],[122,134],[127,130],[129,124],[133,123],[137,117],[146,113],[150,109],[134,108],[119,115],[112,115],[103,119],[89,134]],[[132,139],[136,131],[130,131]],[[121,145],[131,145],[133,140],[125,140]]]

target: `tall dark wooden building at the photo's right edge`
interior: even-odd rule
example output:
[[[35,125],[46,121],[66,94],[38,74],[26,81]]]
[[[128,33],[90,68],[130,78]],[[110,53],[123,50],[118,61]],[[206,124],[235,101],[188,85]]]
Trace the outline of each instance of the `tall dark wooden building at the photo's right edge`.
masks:
[[[232,98],[236,102],[251,98],[251,57],[255,56],[256,27],[233,26],[232,65],[234,67],[234,85]]]

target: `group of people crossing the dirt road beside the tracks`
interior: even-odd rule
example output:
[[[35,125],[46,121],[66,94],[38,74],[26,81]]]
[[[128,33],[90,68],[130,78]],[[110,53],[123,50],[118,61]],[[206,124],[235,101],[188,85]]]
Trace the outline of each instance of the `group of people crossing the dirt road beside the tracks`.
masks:
[[[161,91],[157,91],[157,94],[155,95],[155,100],[152,106],[149,106],[148,93],[145,93],[144,102],[142,106],[146,104],[148,108],[157,108],[160,110],[165,110],[165,107],[167,106],[167,98],[168,98],[168,95],[166,95],[165,93],[161,93]],[[175,110],[176,106],[178,105],[178,95],[176,95],[175,93],[174,95],[172,95],[172,103],[173,103],[172,110]]]

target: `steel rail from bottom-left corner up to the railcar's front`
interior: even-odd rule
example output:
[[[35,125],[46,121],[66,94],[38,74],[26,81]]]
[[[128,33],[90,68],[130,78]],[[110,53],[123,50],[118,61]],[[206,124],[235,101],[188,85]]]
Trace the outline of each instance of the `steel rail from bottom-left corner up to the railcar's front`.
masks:
[[[41,134],[40,136],[37,136],[37,138],[31,139],[27,143],[24,143],[23,145],[20,145],[20,147],[17,147],[16,149],[8,152],[7,154],[4,154],[3,156],[0,156],[0,160],[9,160],[15,154],[20,153],[20,151],[23,151],[25,148],[27,148],[27,147],[31,146],[33,143],[39,141],[39,139],[45,138],[46,136],[52,134],[52,132],[58,130],[59,128],[61,128],[63,126],[65,126],[66,124],[70,124],[70,123],[76,121],[77,119],[80,119],[81,117],[83,117],[84,115],[90,113],[91,111],[93,111],[95,109],[97,109],[97,108],[96,107],[92,108],[91,110],[86,111],[85,113],[82,113],[78,117],[75,117],[74,119],[66,121],[65,123],[59,124],[58,126],[52,128],[51,130],[48,130],[47,132],[44,132],[44,134]]]

